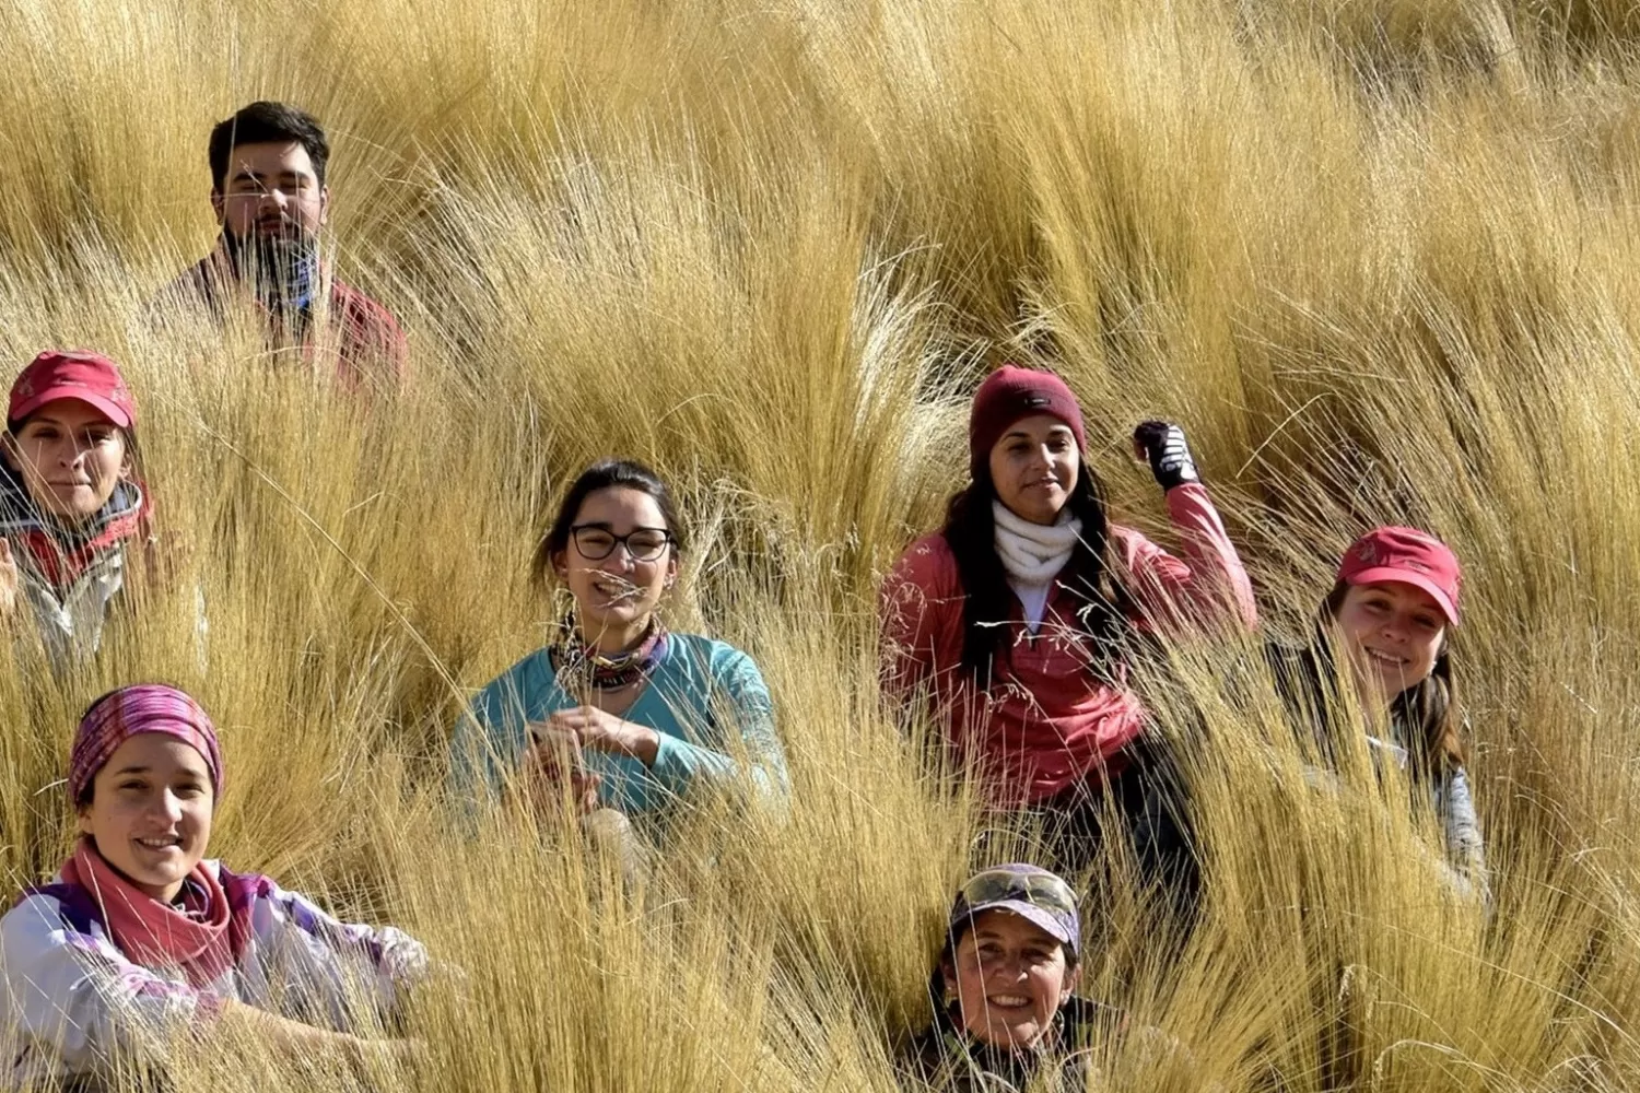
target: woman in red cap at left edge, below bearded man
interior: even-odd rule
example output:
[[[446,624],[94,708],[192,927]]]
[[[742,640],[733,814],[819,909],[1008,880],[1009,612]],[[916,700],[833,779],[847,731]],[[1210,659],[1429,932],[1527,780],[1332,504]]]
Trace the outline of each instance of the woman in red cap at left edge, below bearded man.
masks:
[[[64,670],[97,651],[128,547],[149,537],[136,405],[113,361],[34,357],[11,385],[0,459],[0,618],[26,606]]]

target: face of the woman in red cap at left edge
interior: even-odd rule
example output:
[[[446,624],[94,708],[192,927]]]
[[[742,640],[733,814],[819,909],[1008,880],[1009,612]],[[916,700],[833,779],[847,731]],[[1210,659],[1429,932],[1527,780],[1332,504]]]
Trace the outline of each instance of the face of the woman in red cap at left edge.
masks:
[[[125,429],[75,398],[31,413],[7,439],[5,457],[34,503],[67,523],[93,516],[131,472]]]

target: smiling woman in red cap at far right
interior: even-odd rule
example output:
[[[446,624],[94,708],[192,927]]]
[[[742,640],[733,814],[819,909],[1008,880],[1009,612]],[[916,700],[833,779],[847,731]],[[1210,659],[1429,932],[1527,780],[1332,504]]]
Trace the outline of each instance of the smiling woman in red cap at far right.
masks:
[[[1404,770],[1427,795],[1456,887],[1484,898],[1484,847],[1448,654],[1461,585],[1458,557],[1440,539],[1414,528],[1374,528],[1345,551],[1310,647],[1273,647],[1271,662],[1294,714],[1327,744],[1335,710],[1328,687],[1343,660],[1361,713],[1389,729],[1387,739],[1368,731],[1374,760]]]

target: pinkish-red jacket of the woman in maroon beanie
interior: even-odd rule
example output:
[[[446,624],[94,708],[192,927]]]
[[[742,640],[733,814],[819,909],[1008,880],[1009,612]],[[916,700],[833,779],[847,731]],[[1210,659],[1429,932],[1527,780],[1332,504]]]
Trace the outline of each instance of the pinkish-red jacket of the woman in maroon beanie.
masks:
[[[1253,588],[1230,536],[1197,483],[1168,492],[1168,516],[1184,546],[1173,557],[1132,528],[1110,528],[1110,564],[1150,633],[1258,623]],[[1061,793],[1089,775],[1114,777],[1122,749],[1145,728],[1145,708],[1127,688],[1128,665],[1110,665],[1114,683],[1092,678],[1086,637],[1077,636],[1077,600],[1055,582],[1033,636],[1014,596],[1012,651],[999,655],[981,690],[963,660],[963,583],[956,556],[935,533],[913,542],[882,585],[887,687],[927,687],[963,762],[976,762],[995,805],[1015,808]]]

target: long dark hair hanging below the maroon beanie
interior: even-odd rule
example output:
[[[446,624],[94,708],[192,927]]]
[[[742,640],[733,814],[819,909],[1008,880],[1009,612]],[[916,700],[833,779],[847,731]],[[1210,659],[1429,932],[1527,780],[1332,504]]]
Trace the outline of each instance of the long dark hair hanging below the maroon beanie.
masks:
[[[991,469],[981,464],[968,488],[951,497],[940,531],[963,580],[963,669],[981,685],[989,680],[995,655],[1009,655],[1012,646],[1007,623],[1014,590],[997,556],[997,519],[991,508],[995,500]],[[1058,580],[1079,601],[1076,631],[1089,639],[1094,655],[1087,667],[1099,673],[1127,637],[1133,611],[1127,590],[1110,577],[1105,488],[1086,459],[1077,467],[1066,508],[1082,521],[1082,534]]]

